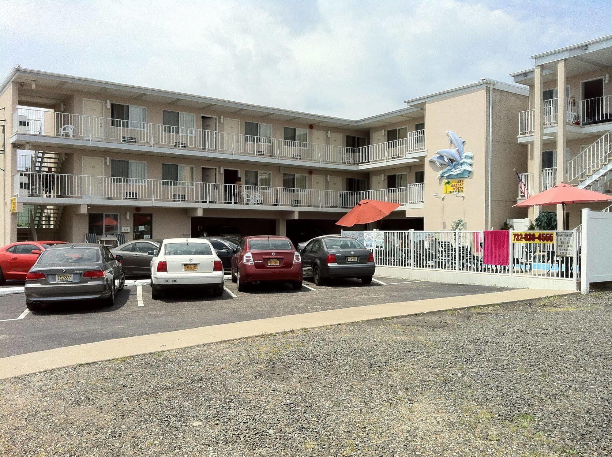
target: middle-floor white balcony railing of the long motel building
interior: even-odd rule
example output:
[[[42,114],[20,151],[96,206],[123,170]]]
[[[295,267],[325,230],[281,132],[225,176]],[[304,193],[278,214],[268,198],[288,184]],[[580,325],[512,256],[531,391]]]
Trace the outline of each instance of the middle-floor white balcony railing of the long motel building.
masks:
[[[23,197],[78,198],[91,202],[150,201],[226,205],[352,208],[362,199],[401,205],[423,202],[423,184],[365,191],[335,191],[288,187],[211,184],[163,179],[132,179],[59,173],[21,172],[13,180],[14,193]]]

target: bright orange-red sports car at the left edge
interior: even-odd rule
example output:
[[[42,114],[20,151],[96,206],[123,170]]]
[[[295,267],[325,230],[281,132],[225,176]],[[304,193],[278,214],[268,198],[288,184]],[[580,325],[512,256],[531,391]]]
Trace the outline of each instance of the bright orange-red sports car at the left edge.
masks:
[[[0,284],[7,279],[25,280],[29,270],[37,261],[42,251],[51,243],[64,243],[63,241],[20,241],[7,244],[0,248]]]

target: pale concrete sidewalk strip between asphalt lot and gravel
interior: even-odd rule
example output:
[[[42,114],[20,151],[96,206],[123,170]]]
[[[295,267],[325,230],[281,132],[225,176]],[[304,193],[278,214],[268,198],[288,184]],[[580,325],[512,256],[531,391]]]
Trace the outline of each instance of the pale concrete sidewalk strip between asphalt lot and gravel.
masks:
[[[517,289],[488,294],[462,295],[460,297],[384,303],[381,305],[318,311],[316,313],[291,314],[276,318],[177,330],[175,332],[131,336],[129,338],[98,341],[96,343],[59,347],[48,351],[4,357],[0,359],[0,379],[53,370],[54,368],[79,363],[101,362],[118,357],[170,351],[180,347],[235,340],[236,338],[264,335],[267,333],[310,329],[323,327],[324,325],[346,324],[348,322],[369,321],[372,319],[394,318],[408,314],[468,308],[479,305],[493,305],[495,303],[517,302],[570,293],[575,292],[551,291],[548,289]]]

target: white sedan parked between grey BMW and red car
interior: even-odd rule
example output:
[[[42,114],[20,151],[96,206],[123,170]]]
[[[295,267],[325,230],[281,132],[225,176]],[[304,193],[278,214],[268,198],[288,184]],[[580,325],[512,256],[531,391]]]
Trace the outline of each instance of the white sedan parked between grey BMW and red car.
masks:
[[[163,240],[151,261],[151,297],[173,288],[201,287],[223,294],[223,264],[208,240]]]

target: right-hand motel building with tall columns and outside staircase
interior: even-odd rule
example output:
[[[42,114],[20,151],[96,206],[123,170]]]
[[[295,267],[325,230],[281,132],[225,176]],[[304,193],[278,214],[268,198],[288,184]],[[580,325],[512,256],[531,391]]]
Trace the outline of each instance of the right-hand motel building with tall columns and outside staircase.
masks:
[[[529,194],[560,182],[611,193],[612,35],[532,58],[533,68],[511,75],[529,89],[529,109],[518,113],[517,139],[529,148],[528,167],[516,167]],[[524,199],[518,186],[517,191],[518,200]],[[562,227],[559,205],[558,229],[580,225],[583,207],[610,210],[609,203],[566,206]],[[530,209],[529,217],[539,210]]]

